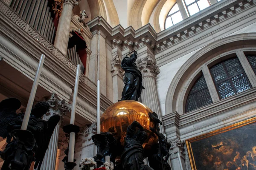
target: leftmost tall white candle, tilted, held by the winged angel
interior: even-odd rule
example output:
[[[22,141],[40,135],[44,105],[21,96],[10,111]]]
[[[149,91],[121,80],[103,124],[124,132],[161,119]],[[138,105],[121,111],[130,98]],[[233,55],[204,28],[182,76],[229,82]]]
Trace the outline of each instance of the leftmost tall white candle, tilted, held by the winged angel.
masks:
[[[27,107],[26,107],[26,112],[25,112],[23,122],[22,122],[22,125],[21,125],[21,130],[26,130],[27,127],[28,127],[29,117],[30,117],[30,113],[31,113],[32,106],[33,106],[33,103],[34,103],[36,89],[38,87],[39,78],[40,78],[42,68],[43,68],[43,64],[44,64],[44,58],[45,58],[45,55],[42,54],[41,59],[40,59],[39,64],[38,64],[37,71],[35,73],[35,79],[34,79],[32,89],[31,89],[31,92],[30,92],[30,95],[29,95],[29,101],[28,101],[28,104],[27,104]]]

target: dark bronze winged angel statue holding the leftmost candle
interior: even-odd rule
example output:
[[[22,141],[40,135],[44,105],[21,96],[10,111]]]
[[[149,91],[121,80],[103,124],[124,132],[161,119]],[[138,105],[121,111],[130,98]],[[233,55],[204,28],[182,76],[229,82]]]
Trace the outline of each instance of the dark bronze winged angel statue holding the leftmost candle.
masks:
[[[0,120],[0,125],[4,125],[1,127],[1,135],[5,137],[9,134],[13,137],[12,142],[7,141],[5,150],[0,153],[1,158],[4,159],[2,169],[29,170],[32,161],[35,160],[34,167],[40,170],[60,116],[54,115],[48,121],[44,121],[41,118],[49,111],[49,104],[38,102],[32,109],[27,130],[20,130],[24,113],[15,113],[20,106],[19,103],[18,99],[6,99],[0,102],[0,117],[5,116],[5,119]]]

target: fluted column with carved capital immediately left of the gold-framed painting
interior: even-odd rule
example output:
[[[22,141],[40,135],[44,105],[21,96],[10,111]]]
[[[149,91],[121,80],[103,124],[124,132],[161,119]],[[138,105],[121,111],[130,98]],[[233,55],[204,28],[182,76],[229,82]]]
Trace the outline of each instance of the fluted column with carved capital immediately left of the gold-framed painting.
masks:
[[[168,141],[171,144],[170,148],[170,160],[172,170],[186,170],[184,145],[185,142],[181,142],[179,138]]]

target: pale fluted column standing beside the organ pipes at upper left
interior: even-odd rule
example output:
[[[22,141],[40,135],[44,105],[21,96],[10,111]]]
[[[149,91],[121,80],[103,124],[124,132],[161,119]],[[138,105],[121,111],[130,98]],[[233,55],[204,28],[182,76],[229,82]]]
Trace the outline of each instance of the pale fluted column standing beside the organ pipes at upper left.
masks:
[[[55,37],[54,45],[65,55],[67,54],[72,10],[75,5],[78,5],[76,0],[64,0],[63,9]]]

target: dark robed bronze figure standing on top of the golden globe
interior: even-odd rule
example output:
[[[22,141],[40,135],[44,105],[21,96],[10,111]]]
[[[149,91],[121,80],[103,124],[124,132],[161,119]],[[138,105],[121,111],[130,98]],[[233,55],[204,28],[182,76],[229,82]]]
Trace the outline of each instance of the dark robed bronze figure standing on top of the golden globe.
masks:
[[[142,91],[142,74],[137,69],[135,63],[137,59],[137,52],[131,54],[130,57],[126,56],[122,59],[121,67],[125,71],[125,77],[123,79],[125,87],[122,91],[121,100],[136,100],[138,101]]]

